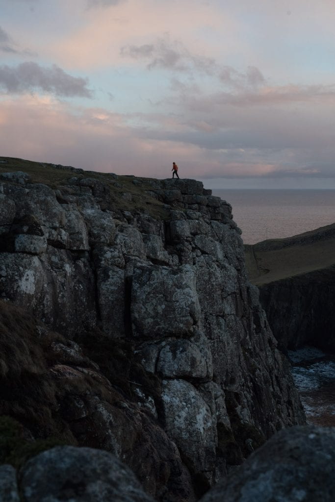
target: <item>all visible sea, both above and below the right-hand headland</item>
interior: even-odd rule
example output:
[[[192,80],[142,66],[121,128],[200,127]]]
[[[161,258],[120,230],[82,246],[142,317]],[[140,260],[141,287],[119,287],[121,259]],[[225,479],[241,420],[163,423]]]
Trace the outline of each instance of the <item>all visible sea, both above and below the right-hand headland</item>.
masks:
[[[335,190],[213,190],[233,206],[245,244],[335,222]],[[309,424],[335,426],[335,355],[312,346],[288,352]]]

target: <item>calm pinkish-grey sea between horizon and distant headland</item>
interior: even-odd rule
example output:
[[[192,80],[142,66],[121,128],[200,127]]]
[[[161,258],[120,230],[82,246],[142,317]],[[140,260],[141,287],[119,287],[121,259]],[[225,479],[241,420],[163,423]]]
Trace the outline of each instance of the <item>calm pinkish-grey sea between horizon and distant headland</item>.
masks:
[[[245,244],[335,223],[335,190],[213,190],[233,206]]]

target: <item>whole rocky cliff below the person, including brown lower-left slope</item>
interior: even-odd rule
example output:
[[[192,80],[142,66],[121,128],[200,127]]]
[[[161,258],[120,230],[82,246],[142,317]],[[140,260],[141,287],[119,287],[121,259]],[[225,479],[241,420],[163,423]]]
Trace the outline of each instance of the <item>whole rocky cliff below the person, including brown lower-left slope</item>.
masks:
[[[0,310],[26,344],[24,370],[23,348],[4,357],[2,412],[116,454],[158,499],[192,500],[304,422],[288,363],[227,202],[193,180],[91,176],[0,176]],[[20,311],[17,326],[10,303],[37,320]]]

